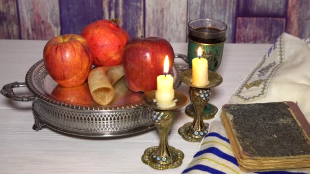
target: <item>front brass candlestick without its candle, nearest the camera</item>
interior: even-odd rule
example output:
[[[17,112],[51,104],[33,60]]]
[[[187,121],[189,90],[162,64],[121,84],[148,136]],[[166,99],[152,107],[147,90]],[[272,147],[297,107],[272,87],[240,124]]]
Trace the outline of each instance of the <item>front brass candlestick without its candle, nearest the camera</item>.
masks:
[[[182,164],[184,153],[168,145],[168,134],[174,120],[174,110],[187,104],[188,98],[185,94],[175,91],[174,99],[176,105],[170,108],[161,108],[157,106],[155,99],[155,90],[145,93],[142,101],[148,107],[153,109],[152,121],[156,126],[159,135],[159,146],[147,148],[142,155],[142,161],[158,170],[175,168]]]

